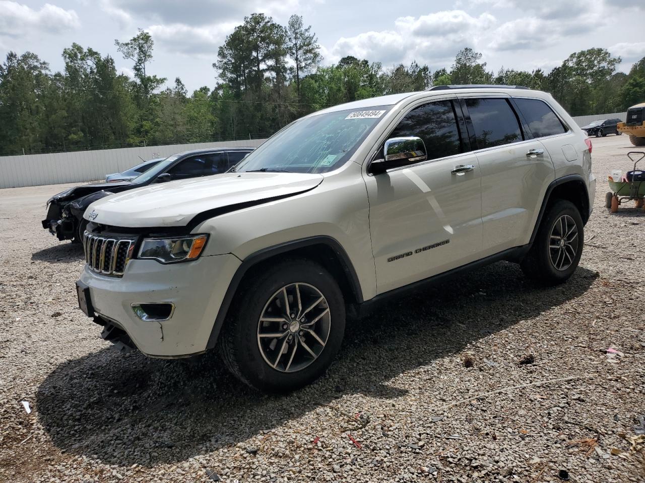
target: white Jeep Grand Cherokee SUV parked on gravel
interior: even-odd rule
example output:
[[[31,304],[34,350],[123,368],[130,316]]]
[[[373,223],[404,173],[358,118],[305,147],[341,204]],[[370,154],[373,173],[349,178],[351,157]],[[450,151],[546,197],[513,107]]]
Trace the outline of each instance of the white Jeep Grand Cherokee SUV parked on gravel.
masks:
[[[591,142],[541,91],[441,86],[301,118],[232,171],[88,207],[79,305],[123,350],[216,349],[281,392],[332,363],[348,312],[498,260],[568,279]]]

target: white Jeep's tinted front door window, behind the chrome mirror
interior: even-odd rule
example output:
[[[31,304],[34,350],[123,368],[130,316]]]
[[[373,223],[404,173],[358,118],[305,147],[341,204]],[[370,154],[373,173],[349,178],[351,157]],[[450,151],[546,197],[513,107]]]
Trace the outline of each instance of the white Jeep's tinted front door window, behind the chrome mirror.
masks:
[[[390,138],[417,136],[426,145],[428,160],[462,153],[453,104],[440,100],[412,109],[401,119]]]

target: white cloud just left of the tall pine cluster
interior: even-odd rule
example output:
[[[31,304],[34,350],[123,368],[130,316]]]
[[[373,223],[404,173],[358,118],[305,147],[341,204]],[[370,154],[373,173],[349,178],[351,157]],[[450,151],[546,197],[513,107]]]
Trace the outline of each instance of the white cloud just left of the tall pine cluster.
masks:
[[[212,55],[217,54],[217,49],[224,43],[226,35],[233,31],[235,25],[237,23],[193,27],[175,23],[152,25],[146,28],[146,31],[168,52]]]

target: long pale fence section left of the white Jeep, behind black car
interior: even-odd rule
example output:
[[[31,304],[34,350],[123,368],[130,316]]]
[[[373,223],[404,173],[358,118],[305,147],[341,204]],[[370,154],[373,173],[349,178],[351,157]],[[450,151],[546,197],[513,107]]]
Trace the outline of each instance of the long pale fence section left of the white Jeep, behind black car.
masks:
[[[104,180],[105,175],[119,173],[139,164],[141,160],[138,156],[152,159],[204,147],[257,147],[263,141],[264,139],[253,139],[46,155],[0,156],[0,188]]]

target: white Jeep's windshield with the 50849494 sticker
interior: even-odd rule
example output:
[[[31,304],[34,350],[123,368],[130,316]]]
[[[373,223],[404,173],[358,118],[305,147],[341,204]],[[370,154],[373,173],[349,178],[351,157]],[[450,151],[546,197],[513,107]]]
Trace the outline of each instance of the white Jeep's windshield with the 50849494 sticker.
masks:
[[[269,138],[231,171],[326,173],[342,166],[390,106],[299,119]]]

